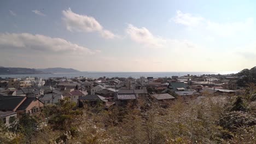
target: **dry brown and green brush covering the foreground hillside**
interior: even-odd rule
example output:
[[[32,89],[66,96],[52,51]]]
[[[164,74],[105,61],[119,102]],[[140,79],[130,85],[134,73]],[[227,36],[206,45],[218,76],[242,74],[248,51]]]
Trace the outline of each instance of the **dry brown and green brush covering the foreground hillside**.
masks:
[[[18,128],[1,126],[2,143],[256,143],[254,93],[240,97],[177,98],[167,107],[102,104],[77,108],[67,99],[25,115]],[[43,121],[38,119],[44,119]],[[24,123],[26,121],[27,123]]]

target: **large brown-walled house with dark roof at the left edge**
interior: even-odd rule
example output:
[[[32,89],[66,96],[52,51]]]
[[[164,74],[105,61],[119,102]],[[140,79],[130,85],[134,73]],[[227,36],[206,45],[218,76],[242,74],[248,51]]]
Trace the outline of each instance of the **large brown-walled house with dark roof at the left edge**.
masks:
[[[40,112],[43,106],[42,101],[34,97],[0,95],[0,111],[17,112],[18,117]]]

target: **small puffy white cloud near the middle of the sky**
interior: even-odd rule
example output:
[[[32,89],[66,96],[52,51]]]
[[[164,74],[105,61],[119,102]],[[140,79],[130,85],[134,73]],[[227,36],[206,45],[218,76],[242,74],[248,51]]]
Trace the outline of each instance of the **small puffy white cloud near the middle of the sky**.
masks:
[[[145,27],[138,28],[129,24],[126,28],[126,33],[130,35],[130,38],[132,40],[136,41],[137,43],[144,44],[146,46],[159,48],[163,47],[164,43],[166,43],[165,39],[155,37]]]

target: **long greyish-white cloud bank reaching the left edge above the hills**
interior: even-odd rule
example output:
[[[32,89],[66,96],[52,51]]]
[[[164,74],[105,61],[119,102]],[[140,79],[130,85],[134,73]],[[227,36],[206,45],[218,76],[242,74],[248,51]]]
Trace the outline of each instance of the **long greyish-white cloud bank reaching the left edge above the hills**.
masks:
[[[86,47],[72,44],[65,39],[30,33],[0,33],[0,49],[25,50],[26,52],[80,53],[81,55],[94,53]]]

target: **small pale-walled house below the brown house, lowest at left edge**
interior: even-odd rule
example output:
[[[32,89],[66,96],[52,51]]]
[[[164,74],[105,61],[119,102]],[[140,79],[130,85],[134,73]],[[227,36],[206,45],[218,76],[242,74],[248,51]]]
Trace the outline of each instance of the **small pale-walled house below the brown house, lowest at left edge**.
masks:
[[[14,111],[0,111],[0,121],[9,127],[11,123],[17,118],[17,112]]]

